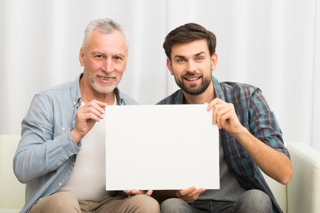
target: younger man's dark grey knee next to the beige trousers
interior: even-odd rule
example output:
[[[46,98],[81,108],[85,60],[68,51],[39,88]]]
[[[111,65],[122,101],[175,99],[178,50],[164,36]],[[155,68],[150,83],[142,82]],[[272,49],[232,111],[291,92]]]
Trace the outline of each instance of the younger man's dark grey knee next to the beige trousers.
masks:
[[[163,201],[160,205],[161,212],[189,212],[189,204],[179,198],[170,198]]]

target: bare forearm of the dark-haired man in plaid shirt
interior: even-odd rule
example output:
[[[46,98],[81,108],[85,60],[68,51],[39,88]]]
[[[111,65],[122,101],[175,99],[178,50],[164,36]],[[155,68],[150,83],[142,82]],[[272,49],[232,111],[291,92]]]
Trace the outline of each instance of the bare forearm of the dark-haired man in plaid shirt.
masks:
[[[282,184],[289,182],[292,166],[288,156],[258,140],[245,127],[233,135],[265,174]]]

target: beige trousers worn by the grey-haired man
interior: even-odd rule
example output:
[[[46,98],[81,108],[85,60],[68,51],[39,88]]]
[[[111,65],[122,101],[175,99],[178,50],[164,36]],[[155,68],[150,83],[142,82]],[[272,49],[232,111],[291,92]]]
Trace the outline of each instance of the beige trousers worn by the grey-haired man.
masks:
[[[73,195],[60,192],[50,195],[32,206],[30,213],[159,213],[158,202],[147,195],[118,196],[101,202],[77,200]]]

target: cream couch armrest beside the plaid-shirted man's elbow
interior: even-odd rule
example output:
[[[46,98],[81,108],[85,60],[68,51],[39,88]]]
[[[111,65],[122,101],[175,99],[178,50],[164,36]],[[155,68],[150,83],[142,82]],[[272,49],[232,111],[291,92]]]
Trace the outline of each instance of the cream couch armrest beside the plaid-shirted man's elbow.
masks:
[[[320,212],[320,152],[301,142],[288,142],[287,149],[293,171],[287,184],[288,212]]]

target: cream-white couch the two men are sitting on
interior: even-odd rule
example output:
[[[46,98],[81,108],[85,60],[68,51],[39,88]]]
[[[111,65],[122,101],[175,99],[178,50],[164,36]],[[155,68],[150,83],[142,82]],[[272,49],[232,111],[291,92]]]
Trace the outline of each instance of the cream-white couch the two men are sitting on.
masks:
[[[13,174],[12,159],[19,135],[0,135],[0,213],[18,212],[25,202],[25,184]],[[286,213],[320,213],[320,152],[301,142],[288,142],[293,175],[288,185],[266,177]]]

